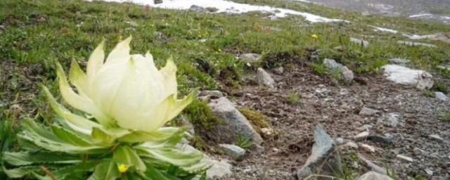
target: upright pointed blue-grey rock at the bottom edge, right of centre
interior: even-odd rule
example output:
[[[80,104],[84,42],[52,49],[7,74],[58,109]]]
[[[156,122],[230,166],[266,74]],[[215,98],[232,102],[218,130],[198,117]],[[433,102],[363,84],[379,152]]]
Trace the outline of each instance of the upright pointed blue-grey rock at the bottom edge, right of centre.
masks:
[[[319,173],[330,176],[342,176],[342,166],[339,153],[335,152],[337,147],[335,141],[326,134],[321,125],[314,130],[314,146],[307,162],[297,172],[298,179],[305,179],[312,174]]]

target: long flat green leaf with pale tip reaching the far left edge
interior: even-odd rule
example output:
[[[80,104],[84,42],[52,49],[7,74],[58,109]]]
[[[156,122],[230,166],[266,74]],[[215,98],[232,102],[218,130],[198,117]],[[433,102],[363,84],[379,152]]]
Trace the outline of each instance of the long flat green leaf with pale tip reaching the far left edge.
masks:
[[[33,163],[75,164],[82,162],[79,157],[54,152],[6,152],[3,159],[15,166],[32,165]]]

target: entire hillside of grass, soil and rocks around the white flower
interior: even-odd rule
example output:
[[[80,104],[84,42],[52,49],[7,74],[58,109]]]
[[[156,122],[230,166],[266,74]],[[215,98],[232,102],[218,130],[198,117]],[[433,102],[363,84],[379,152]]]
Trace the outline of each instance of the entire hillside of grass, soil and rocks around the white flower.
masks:
[[[312,173],[323,179],[368,171],[450,179],[450,25],[303,1],[140,2],[147,6],[0,2],[2,154],[20,150],[25,118],[46,125],[58,118],[39,84],[68,105],[56,62],[69,72],[76,60],[84,70],[103,39],[109,53],[132,37],[131,53],[149,51],[158,68],[173,58],[180,98],[200,88],[198,100],[169,124],[191,124],[188,144],[218,160],[215,178],[298,179],[314,160],[312,147],[325,142],[333,152],[319,147],[313,154],[338,154],[343,170]],[[251,131],[227,129],[243,121]],[[335,141],[318,141],[327,139],[319,124]],[[245,155],[233,160],[221,143]],[[319,169],[330,163],[317,161]]]

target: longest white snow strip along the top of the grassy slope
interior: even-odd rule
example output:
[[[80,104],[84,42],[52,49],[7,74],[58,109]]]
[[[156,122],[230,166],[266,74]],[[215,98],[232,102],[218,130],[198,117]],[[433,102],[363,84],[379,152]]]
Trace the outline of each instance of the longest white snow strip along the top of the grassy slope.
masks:
[[[87,0],[92,1],[92,0]],[[169,8],[169,9],[189,9],[192,5],[200,6],[203,8],[214,7],[219,9],[217,13],[248,13],[251,11],[262,11],[274,13],[274,18],[283,18],[287,15],[301,15],[307,21],[311,23],[329,23],[336,21],[344,21],[349,23],[347,20],[330,19],[324,18],[319,15],[314,15],[311,13],[303,13],[299,11],[293,11],[286,8],[273,8],[270,6],[256,6],[250,4],[240,4],[232,1],[225,0],[164,0],[161,4],[154,4],[152,0],[103,0],[108,2],[131,2],[135,4],[148,5],[154,8]]]

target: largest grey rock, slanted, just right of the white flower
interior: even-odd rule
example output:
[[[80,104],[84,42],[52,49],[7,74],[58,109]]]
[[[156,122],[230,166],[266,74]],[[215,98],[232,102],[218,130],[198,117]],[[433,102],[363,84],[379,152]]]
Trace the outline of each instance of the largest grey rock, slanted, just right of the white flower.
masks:
[[[217,142],[233,143],[236,142],[238,135],[241,135],[244,138],[251,138],[253,143],[262,143],[261,136],[253,129],[252,124],[227,98],[213,99],[208,105],[212,113],[223,121],[216,126]]]

